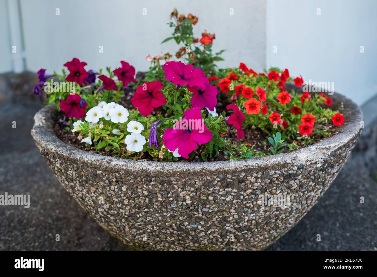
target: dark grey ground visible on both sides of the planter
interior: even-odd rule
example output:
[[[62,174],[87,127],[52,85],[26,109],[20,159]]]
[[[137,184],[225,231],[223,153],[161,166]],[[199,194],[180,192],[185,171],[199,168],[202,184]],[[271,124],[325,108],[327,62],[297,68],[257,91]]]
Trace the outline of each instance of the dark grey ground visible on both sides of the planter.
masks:
[[[69,196],[35,147],[30,130],[43,104],[34,96],[20,97],[20,91],[31,91],[32,82],[21,87],[9,83],[13,94],[0,91],[0,194],[30,194],[31,205],[0,206],[0,251],[127,250]],[[376,137],[377,124],[363,131],[356,151],[322,199],[267,251],[377,250]],[[365,204],[360,204],[361,196]]]

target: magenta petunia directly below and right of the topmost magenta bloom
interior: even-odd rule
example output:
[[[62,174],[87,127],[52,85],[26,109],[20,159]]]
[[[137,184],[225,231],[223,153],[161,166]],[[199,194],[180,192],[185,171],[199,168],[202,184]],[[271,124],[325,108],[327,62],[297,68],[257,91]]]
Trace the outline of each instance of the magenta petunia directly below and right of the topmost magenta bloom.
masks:
[[[211,112],[215,108],[217,104],[217,88],[211,86],[209,83],[205,88],[202,90],[200,87],[194,86],[190,87],[187,86],[187,89],[193,93],[191,97],[191,104],[193,107],[199,107],[203,109],[207,107]]]

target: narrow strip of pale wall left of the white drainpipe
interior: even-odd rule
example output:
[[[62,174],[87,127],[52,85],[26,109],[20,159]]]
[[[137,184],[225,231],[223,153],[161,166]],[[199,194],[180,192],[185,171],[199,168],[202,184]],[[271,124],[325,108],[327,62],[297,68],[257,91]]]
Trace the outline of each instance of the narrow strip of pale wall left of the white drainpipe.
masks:
[[[9,40],[8,6],[0,0],[0,73],[12,70],[12,48]]]

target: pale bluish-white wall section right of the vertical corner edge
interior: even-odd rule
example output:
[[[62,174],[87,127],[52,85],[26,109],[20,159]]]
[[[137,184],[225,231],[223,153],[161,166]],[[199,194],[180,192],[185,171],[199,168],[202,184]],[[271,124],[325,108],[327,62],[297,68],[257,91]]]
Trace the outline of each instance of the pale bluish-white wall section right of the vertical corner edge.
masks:
[[[267,66],[333,81],[335,91],[364,103],[377,93],[376,9],[375,0],[268,0]]]

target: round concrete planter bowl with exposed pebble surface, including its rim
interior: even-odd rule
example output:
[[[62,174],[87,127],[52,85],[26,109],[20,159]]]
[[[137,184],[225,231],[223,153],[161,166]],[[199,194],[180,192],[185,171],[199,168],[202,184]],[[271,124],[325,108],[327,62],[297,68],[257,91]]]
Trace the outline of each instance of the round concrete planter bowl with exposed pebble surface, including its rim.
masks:
[[[340,133],[296,152],[222,162],[143,162],[85,152],[53,132],[57,112],[34,117],[35,144],[60,183],[105,230],[134,250],[262,250],[289,231],[327,190],[361,132],[344,103]],[[289,205],[258,202],[289,197]]]

